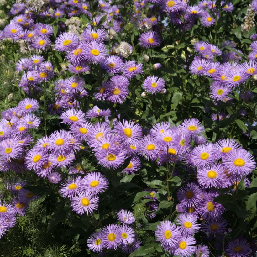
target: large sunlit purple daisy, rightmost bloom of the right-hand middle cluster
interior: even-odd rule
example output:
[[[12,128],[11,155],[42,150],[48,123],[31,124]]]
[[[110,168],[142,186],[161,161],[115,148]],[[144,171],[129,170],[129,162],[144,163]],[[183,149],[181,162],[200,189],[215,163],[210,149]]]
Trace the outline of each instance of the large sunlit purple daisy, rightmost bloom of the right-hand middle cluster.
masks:
[[[223,163],[229,173],[238,176],[248,175],[256,166],[253,155],[245,149],[230,151],[223,158]]]

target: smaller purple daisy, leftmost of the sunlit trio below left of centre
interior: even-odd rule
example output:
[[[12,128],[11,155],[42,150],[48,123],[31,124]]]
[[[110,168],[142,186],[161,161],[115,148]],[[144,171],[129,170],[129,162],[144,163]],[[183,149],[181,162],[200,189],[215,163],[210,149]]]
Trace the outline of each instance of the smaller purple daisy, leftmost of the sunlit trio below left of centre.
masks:
[[[60,186],[60,193],[62,197],[66,198],[75,197],[76,194],[82,191],[81,177],[77,176],[76,178],[71,177],[70,179],[66,179]]]

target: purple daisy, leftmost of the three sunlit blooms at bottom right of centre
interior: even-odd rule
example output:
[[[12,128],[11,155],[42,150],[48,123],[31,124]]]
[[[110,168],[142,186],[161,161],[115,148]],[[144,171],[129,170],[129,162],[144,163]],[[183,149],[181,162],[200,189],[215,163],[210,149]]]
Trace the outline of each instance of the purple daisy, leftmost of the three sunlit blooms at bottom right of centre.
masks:
[[[181,238],[181,233],[174,224],[171,224],[170,220],[165,220],[157,225],[155,236],[161,246],[174,248]]]

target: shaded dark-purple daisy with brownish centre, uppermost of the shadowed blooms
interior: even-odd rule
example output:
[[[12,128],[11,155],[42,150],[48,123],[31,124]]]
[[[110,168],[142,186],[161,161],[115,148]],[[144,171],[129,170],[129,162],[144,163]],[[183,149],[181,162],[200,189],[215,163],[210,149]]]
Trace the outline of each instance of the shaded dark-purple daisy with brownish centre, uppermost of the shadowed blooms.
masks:
[[[177,191],[178,201],[186,207],[197,207],[202,201],[202,190],[191,182]]]

